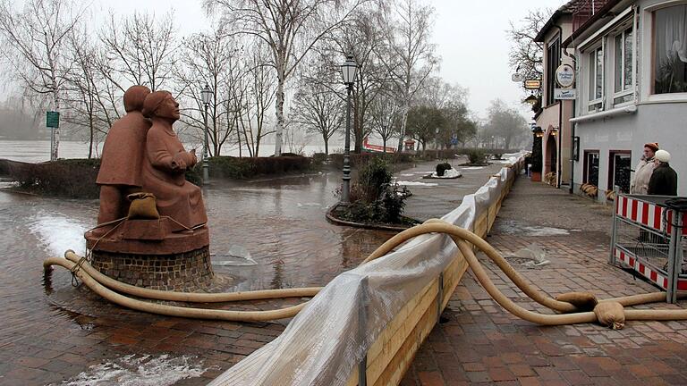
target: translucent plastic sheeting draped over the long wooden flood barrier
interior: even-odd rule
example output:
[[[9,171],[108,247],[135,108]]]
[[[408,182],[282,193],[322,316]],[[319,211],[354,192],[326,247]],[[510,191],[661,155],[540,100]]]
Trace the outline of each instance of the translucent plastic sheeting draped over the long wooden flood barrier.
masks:
[[[505,155],[513,164],[523,153]],[[472,229],[477,214],[498,199],[513,170],[504,167],[442,220]],[[344,385],[386,324],[457,253],[446,235],[423,235],[368,264],[336,276],[272,342],[209,384]]]

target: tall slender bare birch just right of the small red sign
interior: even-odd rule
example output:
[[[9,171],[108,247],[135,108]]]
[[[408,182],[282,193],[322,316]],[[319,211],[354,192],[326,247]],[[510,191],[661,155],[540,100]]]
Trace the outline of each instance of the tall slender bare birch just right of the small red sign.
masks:
[[[403,149],[408,112],[413,98],[423,87],[425,80],[437,68],[435,46],[430,42],[434,8],[420,4],[419,0],[395,0],[392,8],[384,13],[387,26],[386,46],[392,55],[379,55],[386,59],[390,77],[396,83],[401,109],[401,130],[398,150]]]

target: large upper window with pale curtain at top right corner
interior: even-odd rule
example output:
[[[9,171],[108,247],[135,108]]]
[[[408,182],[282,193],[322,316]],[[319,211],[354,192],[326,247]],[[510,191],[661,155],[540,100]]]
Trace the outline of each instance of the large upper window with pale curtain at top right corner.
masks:
[[[687,4],[654,13],[654,94],[687,92]]]

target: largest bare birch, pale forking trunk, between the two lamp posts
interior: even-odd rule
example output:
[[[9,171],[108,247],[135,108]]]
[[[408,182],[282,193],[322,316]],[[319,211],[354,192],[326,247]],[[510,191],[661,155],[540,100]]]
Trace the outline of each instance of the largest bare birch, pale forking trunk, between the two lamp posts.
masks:
[[[227,23],[264,42],[270,51],[268,63],[276,71],[276,155],[282,152],[287,80],[319,39],[347,21],[365,1],[203,0],[208,13],[221,7]]]

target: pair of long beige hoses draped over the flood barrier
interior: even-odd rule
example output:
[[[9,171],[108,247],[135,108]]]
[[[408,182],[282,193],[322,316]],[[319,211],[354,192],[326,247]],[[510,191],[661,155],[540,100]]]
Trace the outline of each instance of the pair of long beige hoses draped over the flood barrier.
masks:
[[[532,323],[549,325],[589,323],[597,321],[597,316],[593,312],[578,312],[566,315],[546,315],[531,312],[522,308],[521,306],[516,305],[511,299],[505,297],[505,295],[498,290],[493,282],[489,279],[488,274],[484,271],[481,264],[479,264],[477,257],[472,252],[470,244],[483,251],[492,261],[496,263],[496,265],[506,274],[506,276],[508,276],[508,278],[515,283],[518,288],[520,288],[523,292],[525,292],[525,294],[537,301],[539,304],[564,313],[573,313],[577,310],[577,308],[572,304],[550,298],[545,293],[531,286],[531,284],[519,273],[517,273],[513,267],[505,261],[505,258],[501,256],[495,248],[491,247],[484,239],[479,238],[479,236],[471,231],[466,231],[441,220],[429,220],[422,225],[413,227],[395,235],[393,238],[387,240],[381,247],[377,248],[377,250],[375,250],[361,264],[366,264],[378,257],[385,256],[388,252],[400,246],[409,239],[422,234],[435,232],[448,234],[454,240],[460,249],[462,256],[465,257],[473,273],[475,273],[479,283],[485,288],[485,290],[488,291],[489,295],[494,298],[499,305],[503,306],[513,315],[521,317],[522,319]],[[302,288],[216,294],[149,290],[125,284],[121,281],[115,281],[114,279],[99,273],[87,261],[85,261],[85,259],[77,256],[71,250],[65,253],[65,257],[66,259],[55,257],[48,258],[43,265],[46,270],[48,270],[52,265],[61,265],[64,268],[72,270],[72,272],[78,275],[78,277],[87,286],[89,286],[91,290],[115,304],[130,307],[139,311],[161,315],[227,321],[258,322],[293,317],[294,315],[298,314],[305,304],[303,303],[298,306],[291,306],[271,311],[216,310],[161,305],[135,298],[129,298],[114,292],[114,290],[139,298],[202,303],[257,300],[267,298],[312,297],[316,295],[319,290],[321,290],[320,288]],[[623,298],[599,300],[599,302],[618,302],[623,306],[632,306],[661,301],[665,299],[665,296],[666,295],[664,292],[656,292]],[[687,310],[625,310],[624,315],[627,320],[685,320],[687,319]]]

